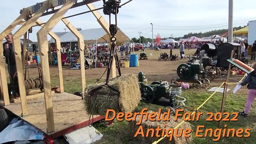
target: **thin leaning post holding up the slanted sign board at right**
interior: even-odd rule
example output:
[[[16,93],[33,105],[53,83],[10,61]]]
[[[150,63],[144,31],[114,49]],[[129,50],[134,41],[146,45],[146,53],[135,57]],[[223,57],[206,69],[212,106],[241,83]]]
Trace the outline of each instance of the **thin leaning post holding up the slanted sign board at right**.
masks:
[[[232,59],[234,57],[234,53],[235,53],[235,51],[232,50],[230,59]],[[229,82],[231,66],[232,66],[232,64],[229,63],[229,66],[228,66],[228,76],[227,76],[227,80],[225,81],[226,83]],[[225,108],[226,97],[227,97],[228,84],[226,84],[226,83],[224,85],[223,97],[222,97],[222,102],[221,102],[221,109],[220,109],[221,115],[223,114],[223,111],[224,111],[224,108]],[[219,122],[219,127],[221,126],[221,122],[222,122],[222,119]]]

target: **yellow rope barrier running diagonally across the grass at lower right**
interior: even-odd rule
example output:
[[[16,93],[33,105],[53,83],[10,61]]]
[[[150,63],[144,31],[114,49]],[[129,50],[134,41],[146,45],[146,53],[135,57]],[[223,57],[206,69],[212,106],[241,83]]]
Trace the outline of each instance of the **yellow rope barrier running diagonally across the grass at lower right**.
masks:
[[[244,75],[244,77],[245,77],[246,75]],[[239,82],[241,82],[243,79],[244,79],[244,77],[239,81]],[[238,83],[239,83],[238,82]],[[207,98],[198,108],[197,108],[197,110],[198,109],[200,109],[201,107],[203,107],[203,105],[207,102],[207,101],[209,101],[212,97],[213,97],[213,95],[220,89],[220,87],[223,85],[223,84],[225,84],[226,82],[223,82],[219,87],[218,87],[218,89],[216,90],[216,91],[214,91],[211,95],[210,95],[210,97],[209,98]],[[238,84],[238,83],[226,83],[226,84]],[[192,114],[191,114],[191,116],[193,116],[194,114],[196,113],[196,111],[194,111]],[[187,117],[188,118],[188,117]],[[175,129],[177,129],[181,124],[183,124],[185,121],[182,121],[181,123],[179,123],[177,126],[175,126],[174,127],[174,129],[173,129],[173,131],[175,130]],[[171,131],[169,131],[169,133],[168,134],[170,134],[171,133]],[[157,141],[155,141],[155,142],[153,142],[152,144],[156,144],[156,143],[158,143],[158,142],[160,142],[161,140],[163,140],[164,138],[166,137],[166,134],[164,135],[164,137],[162,137],[162,138],[160,138],[159,140],[157,140]]]

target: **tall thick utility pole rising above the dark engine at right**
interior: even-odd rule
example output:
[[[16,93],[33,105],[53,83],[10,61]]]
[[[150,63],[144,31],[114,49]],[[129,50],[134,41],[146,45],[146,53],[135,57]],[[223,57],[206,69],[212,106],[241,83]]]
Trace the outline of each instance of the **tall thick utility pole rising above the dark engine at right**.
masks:
[[[229,0],[228,4],[228,42],[233,41],[233,0]]]

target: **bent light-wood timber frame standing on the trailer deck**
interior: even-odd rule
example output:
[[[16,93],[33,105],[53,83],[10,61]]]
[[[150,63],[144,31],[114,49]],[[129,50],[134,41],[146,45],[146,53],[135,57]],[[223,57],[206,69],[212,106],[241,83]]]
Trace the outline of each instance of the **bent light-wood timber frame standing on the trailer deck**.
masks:
[[[78,48],[81,54],[81,83],[82,83],[82,91],[85,90],[86,79],[85,79],[85,66],[84,66],[84,39],[83,36],[78,32],[78,30],[65,18],[63,18],[64,14],[69,10],[77,6],[87,5],[89,9],[95,10],[93,6],[93,2],[97,2],[100,0],[83,0],[82,2],[77,2],[77,0],[47,0],[42,3],[37,3],[36,5],[27,7],[26,9],[21,10],[21,14],[17,19],[15,19],[9,27],[7,27],[1,34],[0,39],[4,39],[5,36],[17,26],[21,25],[19,30],[13,35],[13,49],[15,53],[15,62],[17,66],[17,74],[18,74],[18,83],[19,83],[19,92],[20,92],[20,105],[21,105],[21,116],[29,115],[28,111],[28,102],[26,98],[25,91],[25,83],[24,83],[24,73],[23,73],[23,63],[22,57],[25,55],[21,55],[21,45],[20,45],[20,37],[24,35],[26,37],[27,31],[34,26],[42,26],[42,28],[37,33],[38,47],[39,47],[39,55],[41,57],[42,62],[42,73],[43,73],[43,86],[44,86],[44,102],[45,102],[45,111],[46,111],[46,124],[47,124],[47,133],[53,132],[55,130],[54,127],[54,116],[53,116],[53,99],[51,92],[51,78],[50,78],[50,68],[49,68],[49,44],[47,42],[47,35],[49,34],[55,40],[55,46],[57,47],[57,59],[58,59],[58,73],[59,73],[59,84],[60,84],[60,92],[64,92],[63,86],[63,77],[62,77],[62,66],[61,66],[61,53],[60,53],[60,38],[55,35],[51,30],[59,21],[65,23],[67,28],[77,37],[78,39]],[[59,9],[55,9],[54,7],[61,6]],[[50,11],[51,10],[51,11]],[[45,23],[39,20],[40,17],[47,14],[52,14],[52,17]],[[100,23],[101,27],[105,29],[106,33],[110,36],[109,33],[109,25],[107,21],[100,15],[98,11],[92,11],[97,21]],[[113,63],[112,76],[116,77],[116,67],[115,61]],[[3,45],[0,45],[0,74],[1,74],[1,85],[3,89],[4,96],[4,106],[10,105],[7,81],[6,81],[6,71],[5,71],[5,63],[3,59]],[[98,119],[99,118],[95,118]],[[90,120],[89,120],[90,122]]]

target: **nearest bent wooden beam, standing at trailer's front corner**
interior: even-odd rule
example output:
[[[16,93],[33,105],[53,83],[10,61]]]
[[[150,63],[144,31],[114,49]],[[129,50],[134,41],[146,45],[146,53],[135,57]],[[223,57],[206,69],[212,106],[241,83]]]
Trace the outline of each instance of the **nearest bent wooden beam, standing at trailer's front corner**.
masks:
[[[51,95],[51,78],[49,69],[48,58],[48,41],[47,34],[52,30],[54,26],[63,18],[63,15],[70,9],[70,7],[76,2],[76,0],[67,1],[60,10],[53,14],[52,17],[45,23],[45,25],[37,32],[37,41],[40,49],[40,55],[42,60],[42,72],[43,72],[43,85],[44,85],[44,97],[45,97],[45,110],[46,110],[46,122],[47,132],[54,131],[54,118],[53,118],[53,102]]]

